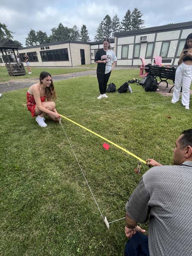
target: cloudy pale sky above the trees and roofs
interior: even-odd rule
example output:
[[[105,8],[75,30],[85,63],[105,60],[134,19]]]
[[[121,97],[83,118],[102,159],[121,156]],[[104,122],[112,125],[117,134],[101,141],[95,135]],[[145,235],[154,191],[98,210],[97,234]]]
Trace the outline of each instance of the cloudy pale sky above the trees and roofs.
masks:
[[[0,0],[0,23],[14,32],[14,40],[25,47],[29,31],[41,30],[49,36],[59,23],[79,30],[84,24],[90,40],[94,41],[96,29],[106,15],[111,19],[115,14],[120,21],[130,9],[138,8],[143,14],[144,26],[162,26],[192,20],[192,4],[189,0]]]

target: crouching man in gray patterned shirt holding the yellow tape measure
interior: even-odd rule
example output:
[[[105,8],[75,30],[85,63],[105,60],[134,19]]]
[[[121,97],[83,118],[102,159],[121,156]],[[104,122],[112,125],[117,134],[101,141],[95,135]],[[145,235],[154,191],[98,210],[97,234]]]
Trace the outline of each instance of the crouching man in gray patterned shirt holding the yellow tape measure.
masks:
[[[192,255],[192,129],[174,149],[174,166],[148,159],[148,170],[126,204],[126,256]],[[149,218],[148,236],[137,226]]]

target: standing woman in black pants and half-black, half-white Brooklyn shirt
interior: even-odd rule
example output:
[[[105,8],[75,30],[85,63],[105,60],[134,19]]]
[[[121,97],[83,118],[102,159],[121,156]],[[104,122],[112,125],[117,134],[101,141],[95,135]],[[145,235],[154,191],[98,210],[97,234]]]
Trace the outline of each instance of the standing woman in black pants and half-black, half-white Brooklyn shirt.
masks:
[[[107,83],[111,75],[111,70],[116,64],[116,55],[111,50],[109,38],[103,40],[103,48],[96,52],[95,62],[97,63],[97,80],[99,83],[100,95],[97,99],[108,98],[106,95]]]

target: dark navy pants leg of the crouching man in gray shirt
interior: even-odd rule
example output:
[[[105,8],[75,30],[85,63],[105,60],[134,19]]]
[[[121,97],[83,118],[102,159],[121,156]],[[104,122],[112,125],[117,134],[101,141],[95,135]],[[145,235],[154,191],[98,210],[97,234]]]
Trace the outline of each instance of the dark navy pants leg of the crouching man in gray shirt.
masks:
[[[137,232],[125,246],[125,256],[149,256],[148,236]]]

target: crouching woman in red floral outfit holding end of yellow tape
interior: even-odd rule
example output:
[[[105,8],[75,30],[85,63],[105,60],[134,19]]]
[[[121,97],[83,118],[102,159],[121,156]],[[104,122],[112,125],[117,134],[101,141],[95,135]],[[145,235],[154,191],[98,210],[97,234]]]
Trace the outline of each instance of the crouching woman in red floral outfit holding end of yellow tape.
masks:
[[[41,72],[40,82],[33,84],[27,91],[27,108],[32,116],[37,116],[35,120],[41,127],[46,127],[44,116],[49,116],[53,121],[59,121],[61,116],[55,109],[56,99],[55,88],[51,75],[45,71]],[[47,99],[47,102],[45,101]]]

